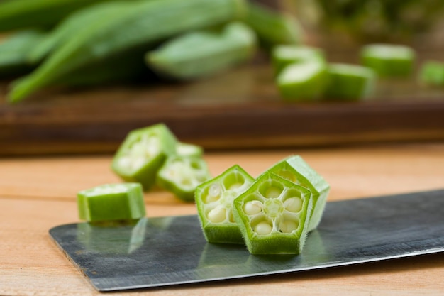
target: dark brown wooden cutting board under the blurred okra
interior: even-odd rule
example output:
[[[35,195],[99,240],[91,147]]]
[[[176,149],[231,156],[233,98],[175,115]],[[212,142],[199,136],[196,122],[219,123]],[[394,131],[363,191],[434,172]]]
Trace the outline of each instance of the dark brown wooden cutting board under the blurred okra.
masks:
[[[128,131],[159,122],[206,149],[444,139],[444,90],[413,79],[379,81],[364,102],[283,102],[267,65],[201,82],[43,92],[16,105],[6,89],[0,155],[113,153]]]

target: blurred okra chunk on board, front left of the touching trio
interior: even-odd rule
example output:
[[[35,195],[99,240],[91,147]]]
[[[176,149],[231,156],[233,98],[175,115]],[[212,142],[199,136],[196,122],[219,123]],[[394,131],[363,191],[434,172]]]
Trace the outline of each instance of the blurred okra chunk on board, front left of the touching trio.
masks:
[[[285,67],[277,75],[276,83],[286,101],[314,101],[322,98],[326,78],[326,63],[313,60]]]

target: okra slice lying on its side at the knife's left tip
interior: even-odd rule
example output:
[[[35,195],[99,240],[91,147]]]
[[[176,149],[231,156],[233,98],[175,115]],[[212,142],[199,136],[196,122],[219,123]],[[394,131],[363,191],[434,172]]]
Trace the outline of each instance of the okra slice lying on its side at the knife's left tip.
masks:
[[[138,183],[106,184],[77,194],[79,218],[89,222],[133,220],[145,216]]]

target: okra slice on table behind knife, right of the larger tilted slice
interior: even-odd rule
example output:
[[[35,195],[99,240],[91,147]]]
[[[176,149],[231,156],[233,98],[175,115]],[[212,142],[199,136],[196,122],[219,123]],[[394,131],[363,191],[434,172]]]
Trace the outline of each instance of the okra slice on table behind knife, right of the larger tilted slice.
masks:
[[[157,185],[184,202],[194,201],[194,190],[211,178],[203,158],[171,155],[157,173]]]

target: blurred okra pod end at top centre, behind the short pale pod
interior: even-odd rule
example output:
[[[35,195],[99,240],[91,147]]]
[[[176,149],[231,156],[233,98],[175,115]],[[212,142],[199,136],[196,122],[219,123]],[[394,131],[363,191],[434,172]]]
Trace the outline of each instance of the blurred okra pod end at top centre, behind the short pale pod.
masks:
[[[294,16],[273,11],[253,1],[249,2],[245,23],[257,33],[265,48],[280,44],[301,44],[304,40],[304,31]]]

